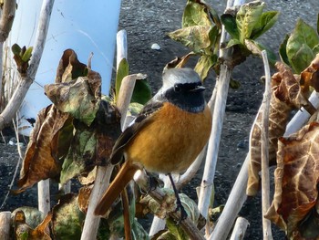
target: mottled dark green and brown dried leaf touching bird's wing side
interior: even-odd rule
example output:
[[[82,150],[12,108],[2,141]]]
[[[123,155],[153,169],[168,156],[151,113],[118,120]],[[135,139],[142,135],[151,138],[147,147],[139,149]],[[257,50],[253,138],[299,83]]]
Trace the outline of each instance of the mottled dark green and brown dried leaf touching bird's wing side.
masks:
[[[60,183],[87,175],[96,165],[105,165],[120,134],[119,126],[118,111],[104,100],[90,126],[74,120],[75,133],[63,162]]]

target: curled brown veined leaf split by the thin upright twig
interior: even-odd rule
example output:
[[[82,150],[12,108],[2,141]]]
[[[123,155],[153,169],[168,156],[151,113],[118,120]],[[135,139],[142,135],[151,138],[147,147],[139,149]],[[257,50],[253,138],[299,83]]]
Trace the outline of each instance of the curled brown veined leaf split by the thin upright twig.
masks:
[[[276,163],[277,141],[283,136],[289,114],[293,109],[307,106],[299,81],[294,78],[290,68],[277,63],[278,72],[272,77],[272,99],[269,114],[269,162]],[[262,106],[252,126],[248,168],[247,195],[253,196],[259,191],[259,172],[261,171],[262,146]]]

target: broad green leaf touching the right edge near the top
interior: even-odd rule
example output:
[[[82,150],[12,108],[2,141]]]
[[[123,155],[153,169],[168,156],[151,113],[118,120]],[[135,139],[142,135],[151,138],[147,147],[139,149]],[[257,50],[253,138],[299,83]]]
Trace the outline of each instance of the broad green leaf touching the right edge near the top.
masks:
[[[317,53],[318,44],[319,37],[314,28],[299,19],[286,47],[289,62],[295,73],[300,73],[309,66]]]

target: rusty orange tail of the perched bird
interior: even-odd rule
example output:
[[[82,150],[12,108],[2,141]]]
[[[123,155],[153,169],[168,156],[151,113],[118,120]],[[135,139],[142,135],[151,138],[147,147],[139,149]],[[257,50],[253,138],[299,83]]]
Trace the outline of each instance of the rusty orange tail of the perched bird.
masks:
[[[101,200],[99,201],[94,214],[104,215],[107,214],[111,204],[117,199],[119,194],[127,186],[130,180],[133,179],[135,172],[139,170],[139,167],[131,164],[130,162],[124,162],[120,168],[117,176],[112,183],[108,186],[107,192],[104,193]]]

